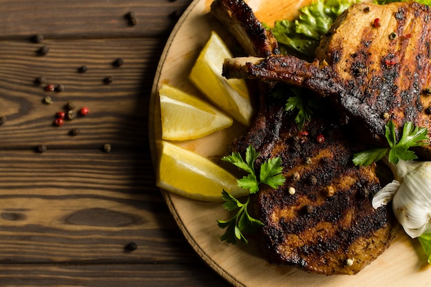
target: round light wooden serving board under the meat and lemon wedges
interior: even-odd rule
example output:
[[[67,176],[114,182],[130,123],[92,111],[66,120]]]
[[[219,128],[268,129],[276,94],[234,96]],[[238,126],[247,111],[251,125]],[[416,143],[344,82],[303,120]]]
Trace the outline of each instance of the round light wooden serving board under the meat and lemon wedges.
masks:
[[[276,19],[293,17],[309,0],[250,0],[260,21],[271,25]],[[218,32],[228,45],[235,43],[218,20],[209,14],[211,0],[195,0],[174,28],[160,59],[150,104],[150,142],[157,171],[157,142],[161,138],[158,89],[164,83],[199,95],[188,75],[211,30]],[[217,162],[229,142],[244,131],[240,125],[215,134],[176,142]],[[162,191],[178,226],[202,259],[233,286],[430,286],[431,270],[417,240],[410,240],[402,230],[388,250],[357,275],[314,275],[296,268],[271,265],[253,244],[231,245],[220,241],[224,232],[215,220],[227,219],[221,202],[199,202]]]

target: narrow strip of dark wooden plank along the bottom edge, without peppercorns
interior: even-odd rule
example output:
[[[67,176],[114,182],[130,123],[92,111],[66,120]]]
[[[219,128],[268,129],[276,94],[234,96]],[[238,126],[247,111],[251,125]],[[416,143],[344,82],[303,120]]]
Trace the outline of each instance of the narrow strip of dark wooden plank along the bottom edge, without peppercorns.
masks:
[[[202,264],[0,265],[1,286],[228,287]]]

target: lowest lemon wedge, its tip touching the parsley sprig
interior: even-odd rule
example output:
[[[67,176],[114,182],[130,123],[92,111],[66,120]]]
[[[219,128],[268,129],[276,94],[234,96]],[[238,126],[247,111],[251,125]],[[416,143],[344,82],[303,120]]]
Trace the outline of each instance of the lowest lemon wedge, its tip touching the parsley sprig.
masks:
[[[222,201],[222,191],[235,197],[249,194],[237,179],[208,158],[162,140],[157,186],[195,200]]]

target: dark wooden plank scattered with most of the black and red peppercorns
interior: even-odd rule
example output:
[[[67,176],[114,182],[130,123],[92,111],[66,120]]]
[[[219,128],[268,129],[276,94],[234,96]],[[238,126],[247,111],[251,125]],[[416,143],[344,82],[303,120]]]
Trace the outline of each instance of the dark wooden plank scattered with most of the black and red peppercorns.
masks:
[[[94,148],[112,145],[142,146],[147,143],[147,111],[154,69],[165,44],[160,39],[52,40],[46,56],[37,56],[40,45],[26,41],[2,41],[0,45],[0,149],[32,149],[37,145]],[[114,67],[118,57],[124,65]],[[88,70],[78,73],[78,67]],[[35,85],[63,85],[63,92],[45,92]],[[109,85],[103,82],[112,76]],[[43,99],[50,96],[52,105]],[[72,101],[86,106],[90,116],[53,127],[54,115]],[[81,134],[71,137],[78,128]]]

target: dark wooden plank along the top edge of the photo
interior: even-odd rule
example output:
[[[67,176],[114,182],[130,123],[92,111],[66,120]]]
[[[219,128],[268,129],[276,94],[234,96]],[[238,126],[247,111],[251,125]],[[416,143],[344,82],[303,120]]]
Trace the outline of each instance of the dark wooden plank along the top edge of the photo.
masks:
[[[124,38],[167,34],[191,0],[116,1],[0,0],[0,40]],[[129,25],[125,14],[132,11],[137,25]]]

